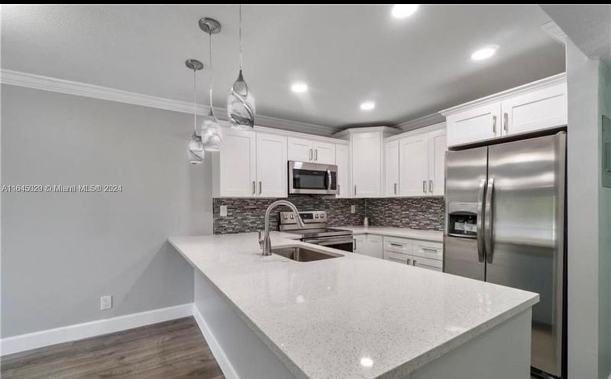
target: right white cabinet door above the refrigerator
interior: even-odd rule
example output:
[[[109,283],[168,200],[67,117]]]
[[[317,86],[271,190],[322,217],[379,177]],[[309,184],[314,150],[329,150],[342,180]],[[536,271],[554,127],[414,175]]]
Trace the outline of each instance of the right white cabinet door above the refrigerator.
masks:
[[[566,83],[503,100],[502,111],[507,135],[566,125]]]

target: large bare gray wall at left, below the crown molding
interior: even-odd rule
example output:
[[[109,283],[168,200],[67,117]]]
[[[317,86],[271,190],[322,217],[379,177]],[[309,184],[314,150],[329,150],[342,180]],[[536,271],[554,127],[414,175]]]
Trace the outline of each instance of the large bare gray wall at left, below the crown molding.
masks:
[[[212,231],[210,160],[187,161],[192,116],[2,85],[1,121],[3,185],[123,186],[2,194],[2,337],[193,300],[166,241]]]

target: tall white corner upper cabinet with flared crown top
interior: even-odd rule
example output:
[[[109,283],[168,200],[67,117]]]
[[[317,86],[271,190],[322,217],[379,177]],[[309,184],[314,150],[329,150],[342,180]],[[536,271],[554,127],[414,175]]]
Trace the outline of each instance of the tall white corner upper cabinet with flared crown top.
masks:
[[[383,141],[400,133],[389,127],[352,128],[335,134],[350,141],[351,197],[382,197]]]

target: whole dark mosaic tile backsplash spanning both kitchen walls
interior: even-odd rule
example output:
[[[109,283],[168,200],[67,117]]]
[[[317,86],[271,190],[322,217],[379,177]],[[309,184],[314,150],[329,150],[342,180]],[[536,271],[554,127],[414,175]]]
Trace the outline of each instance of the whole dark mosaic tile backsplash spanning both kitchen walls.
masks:
[[[241,197],[213,199],[214,234],[255,232],[263,229],[263,217],[268,205],[277,199],[247,199]],[[336,199],[331,196],[291,195],[299,210],[326,210],[329,226],[362,225],[365,212],[372,226],[409,227],[412,229],[443,230],[443,197],[395,197],[384,199]],[[221,217],[221,205],[227,205],[227,216]],[[350,213],[355,205],[356,213]],[[276,208],[269,217],[271,230],[278,229]]]

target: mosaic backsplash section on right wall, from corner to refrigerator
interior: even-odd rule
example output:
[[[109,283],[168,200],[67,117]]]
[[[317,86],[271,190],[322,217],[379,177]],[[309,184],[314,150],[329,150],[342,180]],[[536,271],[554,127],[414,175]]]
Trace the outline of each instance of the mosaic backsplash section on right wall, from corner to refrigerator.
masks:
[[[443,197],[388,197],[367,199],[370,225],[444,230]]]

